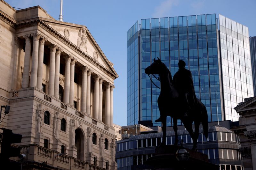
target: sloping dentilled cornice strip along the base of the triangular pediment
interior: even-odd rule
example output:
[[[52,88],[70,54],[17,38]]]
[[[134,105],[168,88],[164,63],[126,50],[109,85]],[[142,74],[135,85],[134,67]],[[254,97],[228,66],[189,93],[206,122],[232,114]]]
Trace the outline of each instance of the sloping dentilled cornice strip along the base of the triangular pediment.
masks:
[[[73,44],[71,41],[69,41],[68,39],[66,39],[64,36],[62,36],[60,33],[58,33],[57,31],[55,31],[54,29],[52,29],[52,27],[50,27],[49,25],[47,25],[46,23],[44,23],[41,19],[37,20],[38,24],[40,26],[42,26],[43,28],[45,28],[46,31],[52,33],[56,38],[58,38],[60,41],[64,42],[65,44],[67,44],[70,48],[72,48],[73,50],[75,50],[77,53],[79,53],[81,56],[83,56],[85,59],[89,60],[91,63],[93,63],[94,65],[96,65],[98,68],[100,68],[101,70],[105,71],[108,75],[110,75],[112,78],[116,79],[117,76],[115,74],[113,74],[111,71],[109,71],[106,67],[104,67],[103,65],[101,65],[99,62],[97,62],[96,60],[94,60],[93,57],[91,57],[90,55],[84,53],[81,49],[79,49],[75,44]]]

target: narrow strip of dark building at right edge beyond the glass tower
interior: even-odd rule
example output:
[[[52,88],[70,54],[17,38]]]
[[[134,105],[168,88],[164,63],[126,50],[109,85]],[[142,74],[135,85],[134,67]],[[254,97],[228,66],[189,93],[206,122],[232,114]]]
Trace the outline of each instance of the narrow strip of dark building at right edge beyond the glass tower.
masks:
[[[256,36],[250,37],[250,49],[252,60],[253,90],[254,96],[256,96]]]

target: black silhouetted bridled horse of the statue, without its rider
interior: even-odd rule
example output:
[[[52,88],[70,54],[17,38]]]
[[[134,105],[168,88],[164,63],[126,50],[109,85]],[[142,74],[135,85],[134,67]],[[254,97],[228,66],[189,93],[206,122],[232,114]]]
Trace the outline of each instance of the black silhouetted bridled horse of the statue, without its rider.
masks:
[[[158,57],[157,57],[158,58]],[[172,82],[172,74],[170,70],[166,67],[164,63],[158,58],[145,69],[145,73],[149,76],[150,74],[158,74],[160,78],[160,94],[157,99],[158,108],[160,111],[160,117],[163,129],[163,140],[160,145],[166,144],[166,118],[171,116],[173,119],[173,130],[175,132],[175,143],[178,144],[178,119],[184,124],[185,128],[188,130],[190,137],[193,139],[193,148],[196,150],[197,139],[199,137],[199,125],[202,123],[204,136],[208,137],[208,115],[207,110],[201,100],[197,99],[198,105],[194,109],[188,111],[187,116],[185,111],[182,111],[182,102],[179,97],[179,93]],[[153,83],[153,82],[152,82]],[[180,113],[180,114],[178,114]],[[194,122],[195,130],[192,129],[192,124]]]

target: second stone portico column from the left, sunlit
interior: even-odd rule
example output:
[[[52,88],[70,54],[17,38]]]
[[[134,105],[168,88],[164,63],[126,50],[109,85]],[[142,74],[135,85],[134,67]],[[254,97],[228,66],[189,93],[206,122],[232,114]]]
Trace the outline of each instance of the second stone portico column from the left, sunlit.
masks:
[[[33,34],[33,51],[32,51],[32,65],[31,65],[31,75],[30,75],[30,85],[29,87],[37,87],[37,69],[38,69],[38,48],[39,48],[39,33]]]

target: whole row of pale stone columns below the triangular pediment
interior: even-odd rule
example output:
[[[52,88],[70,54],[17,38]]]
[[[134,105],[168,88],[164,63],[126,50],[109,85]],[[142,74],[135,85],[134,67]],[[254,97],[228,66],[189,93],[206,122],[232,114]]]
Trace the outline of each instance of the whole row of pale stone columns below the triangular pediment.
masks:
[[[33,36],[32,65],[29,82],[30,70],[30,53],[31,37]],[[44,44],[47,38],[34,33],[33,35],[24,35],[25,57],[22,79],[22,89],[36,87],[42,90],[43,82],[43,61],[44,61]],[[60,54],[63,50],[55,44],[48,45],[50,48],[50,65],[48,80],[48,95],[56,99],[59,98],[59,78],[60,78]],[[77,59],[72,55],[64,55],[65,59],[65,82],[63,103],[73,107],[74,105],[74,76],[75,63]],[[103,102],[103,81],[104,78],[98,74],[92,75],[92,69],[88,66],[81,67],[82,70],[82,88],[81,88],[81,112],[90,115],[91,111],[91,76],[94,78],[94,101],[93,101],[93,118],[102,121],[102,102]],[[104,82],[106,87],[105,99],[105,120],[106,125],[113,126],[113,89],[115,88],[109,82]]]

